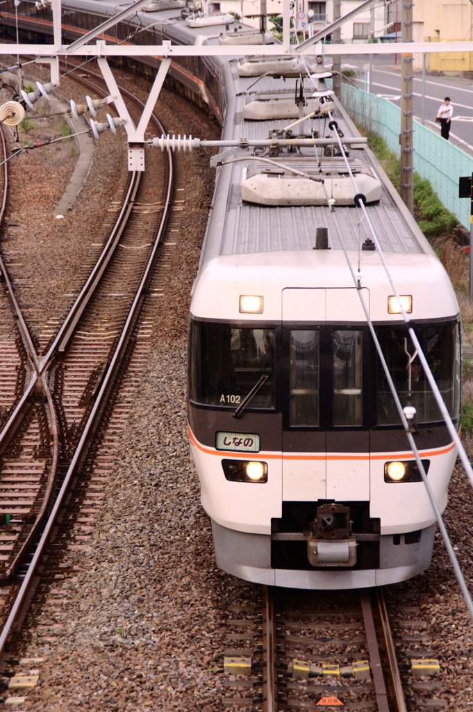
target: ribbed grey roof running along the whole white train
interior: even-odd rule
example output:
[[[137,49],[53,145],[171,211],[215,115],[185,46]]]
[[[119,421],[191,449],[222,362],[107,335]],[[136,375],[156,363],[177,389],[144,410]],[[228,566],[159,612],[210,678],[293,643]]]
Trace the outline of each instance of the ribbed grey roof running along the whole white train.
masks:
[[[114,0],[85,0],[80,3],[68,0],[67,5],[80,6],[86,11],[97,12],[100,9],[104,14],[115,14],[122,9],[122,5]],[[220,19],[221,23],[218,23],[217,15],[213,17],[216,24],[193,27],[181,17],[180,9],[139,12],[140,25],[165,27],[166,36],[176,43],[216,45],[220,44],[225,36],[235,36],[238,32],[245,33],[250,30],[257,34],[254,28],[229,22],[228,16],[220,16]],[[284,71],[281,71],[280,75],[277,75],[277,71],[273,71],[271,75],[266,73],[264,59],[258,67],[257,59],[246,58],[246,65],[252,73],[250,76],[242,75],[239,69],[239,63],[242,61],[239,62],[237,58],[218,56],[209,58],[209,61],[216,67],[216,74],[221,73],[223,76],[226,103],[223,137],[265,140],[270,135],[283,135],[285,127],[292,123],[291,119],[248,120],[244,114],[248,110],[247,105],[255,100],[260,106],[275,98],[289,102],[292,100],[295,104],[299,78],[285,76]],[[277,58],[271,58],[270,61],[277,63]],[[281,57],[280,61],[284,64],[291,59]],[[320,71],[324,70],[324,67],[312,67],[310,70]],[[310,96],[310,81],[306,82],[306,88],[309,88]],[[345,138],[359,136],[353,122],[338,102],[335,102],[334,118]],[[317,130],[319,137],[332,133],[326,117],[314,117],[312,125],[306,121],[295,127],[294,137],[299,135],[301,126],[306,132],[309,129]],[[323,147],[299,147],[293,152],[277,151],[272,155],[273,163],[270,165],[265,162],[267,152],[264,156],[260,152],[261,160],[255,160],[255,156],[250,157],[247,150],[248,160],[245,160],[245,151],[234,151],[233,158],[238,160],[218,168],[217,189],[203,246],[203,262],[218,255],[311,249],[315,246],[317,228],[326,229],[329,248],[332,250],[341,249],[342,242],[347,250],[361,249],[361,246],[371,239],[372,231],[368,221],[363,219],[361,209],[356,207],[354,197],[356,192],[365,193],[364,181],[368,179],[378,184],[378,194],[373,201],[368,202],[366,210],[383,251],[430,253],[430,245],[371,151],[361,143],[350,145],[348,150],[349,164],[356,183],[348,188],[350,179],[343,159],[339,156],[324,156]],[[258,151],[255,153],[258,154]],[[312,204],[300,204],[300,201],[293,204],[287,201],[288,204],[285,204],[284,200],[278,202],[275,199],[274,204],[263,204],[265,200],[273,200],[275,191],[279,191],[284,197],[285,193],[293,192],[294,187],[303,185],[304,179],[300,175],[295,176],[293,170],[306,176],[310,175],[306,183],[309,180],[317,182],[319,175],[324,177],[324,187],[319,184],[318,189],[319,192],[325,192],[325,199],[315,199]],[[361,184],[360,188],[358,182]],[[346,204],[337,194],[340,185],[344,192],[349,189],[353,198],[345,201]],[[258,194],[260,189],[269,192],[270,197]],[[331,197],[334,201],[330,200]]]

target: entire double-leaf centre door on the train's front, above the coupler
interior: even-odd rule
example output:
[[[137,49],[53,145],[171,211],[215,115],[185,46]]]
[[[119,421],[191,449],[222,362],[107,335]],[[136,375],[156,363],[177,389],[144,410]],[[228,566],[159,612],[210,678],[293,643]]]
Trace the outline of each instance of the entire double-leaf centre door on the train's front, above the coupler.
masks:
[[[283,500],[368,500],[369,349],[356,289],[287,288],[282,320]]]

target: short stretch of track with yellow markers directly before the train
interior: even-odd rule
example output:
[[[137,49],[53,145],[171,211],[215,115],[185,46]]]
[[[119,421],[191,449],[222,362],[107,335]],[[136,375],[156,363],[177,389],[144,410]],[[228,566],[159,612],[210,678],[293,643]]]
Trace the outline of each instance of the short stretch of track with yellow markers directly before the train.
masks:
[[[406,638],[407,648],[393,637],[382,590],[334,597],[265,587],[261,597],[235,605],[227,624],[224,708],[407,712],[446,707],[436,696],[441,685],[430,679],[438,667],[432,649],[418,648],[416,655],[412,636]],[[403,623],[397,620],[396,627],[402,629]]]

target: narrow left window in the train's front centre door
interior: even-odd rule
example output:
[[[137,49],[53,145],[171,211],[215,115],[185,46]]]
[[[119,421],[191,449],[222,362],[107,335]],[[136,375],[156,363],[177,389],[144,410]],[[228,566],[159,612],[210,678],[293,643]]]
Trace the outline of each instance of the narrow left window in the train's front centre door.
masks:
[[[317,427],[319,332],[292,330],[289,349],[289,426]]]

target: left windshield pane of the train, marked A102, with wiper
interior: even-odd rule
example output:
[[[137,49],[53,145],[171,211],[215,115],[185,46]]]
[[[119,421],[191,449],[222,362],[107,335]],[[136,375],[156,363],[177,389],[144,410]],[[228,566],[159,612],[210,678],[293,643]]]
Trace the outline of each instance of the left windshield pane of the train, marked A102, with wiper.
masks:
[[[191,400],[235,409],[267,376],[248,407],[274,408],[274,329],[192,323],[189,346]]]

